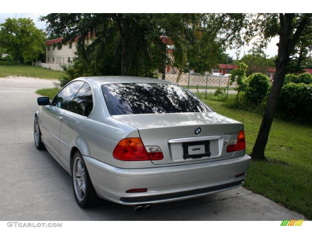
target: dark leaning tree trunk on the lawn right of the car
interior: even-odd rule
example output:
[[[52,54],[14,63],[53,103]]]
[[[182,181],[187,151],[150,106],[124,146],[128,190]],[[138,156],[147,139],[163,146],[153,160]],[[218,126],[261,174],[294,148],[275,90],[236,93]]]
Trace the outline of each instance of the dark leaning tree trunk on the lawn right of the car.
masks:
[[[280,40],[278,45],[278,54],[275,61],[275,77],[271,93],[269,95],[266,110],[262,119],[256,143],[252,149],[251,158],[256,160],[265,160],[264,151],[268,142],[270,129],[273,122],[273,117],[276,111],[280,90],[282,88],[284,78],[286,75],[286,66],[290,56],[290,34],[292,29],[293,17],[285,14],[285,20],[281,22],[280,27]]]

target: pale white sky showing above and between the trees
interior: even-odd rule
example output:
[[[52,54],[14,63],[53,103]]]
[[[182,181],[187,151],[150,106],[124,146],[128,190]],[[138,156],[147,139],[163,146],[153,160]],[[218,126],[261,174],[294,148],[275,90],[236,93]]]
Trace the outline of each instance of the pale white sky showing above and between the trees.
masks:
[[[47,13],[0,13],[0,24],[5,22],[5,19],[7,18],[14,18],[15,16],[17,18],[20,17],[27,17],[31,18],[34,23],[36,24],[36,27],[39,29],[46,29],[46,23],[39,21],[40,16],[44,16]],[[277,55],[277,46],[276,43],[278,42],[278,37],[272,38],[271,42],[268,44],[267,49],[265,49],[265,53],[269,56],[275,56]],[[244,46],[241,48],[240,57],[243,56],[244,51],[245,54],[248,53],[248,50],[251,49],[252,46]],[[236,59],[236,51],[235,50],[226,50],[226,53],[232,56],[234,59]]]

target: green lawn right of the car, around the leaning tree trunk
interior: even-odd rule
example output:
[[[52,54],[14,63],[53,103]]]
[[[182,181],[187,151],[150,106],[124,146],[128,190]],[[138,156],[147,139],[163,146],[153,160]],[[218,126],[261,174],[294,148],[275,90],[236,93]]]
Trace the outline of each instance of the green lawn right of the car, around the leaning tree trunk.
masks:
[[[250,154],[262,115],[204,101],[219,114],[244,124],[246,153]],[[265,155],[267,161],[251,162],[244,187],[312,219],[312,126],[275,119]]]

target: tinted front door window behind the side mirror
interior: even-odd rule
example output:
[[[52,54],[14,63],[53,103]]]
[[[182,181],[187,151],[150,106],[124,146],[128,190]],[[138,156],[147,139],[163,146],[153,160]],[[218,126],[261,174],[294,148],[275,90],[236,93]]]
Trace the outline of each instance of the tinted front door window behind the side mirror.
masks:
[[[70,109],[70,103],[84,84],[83,81],[74,81],[66,85],[53,99],[52,105],[65,110]]]

